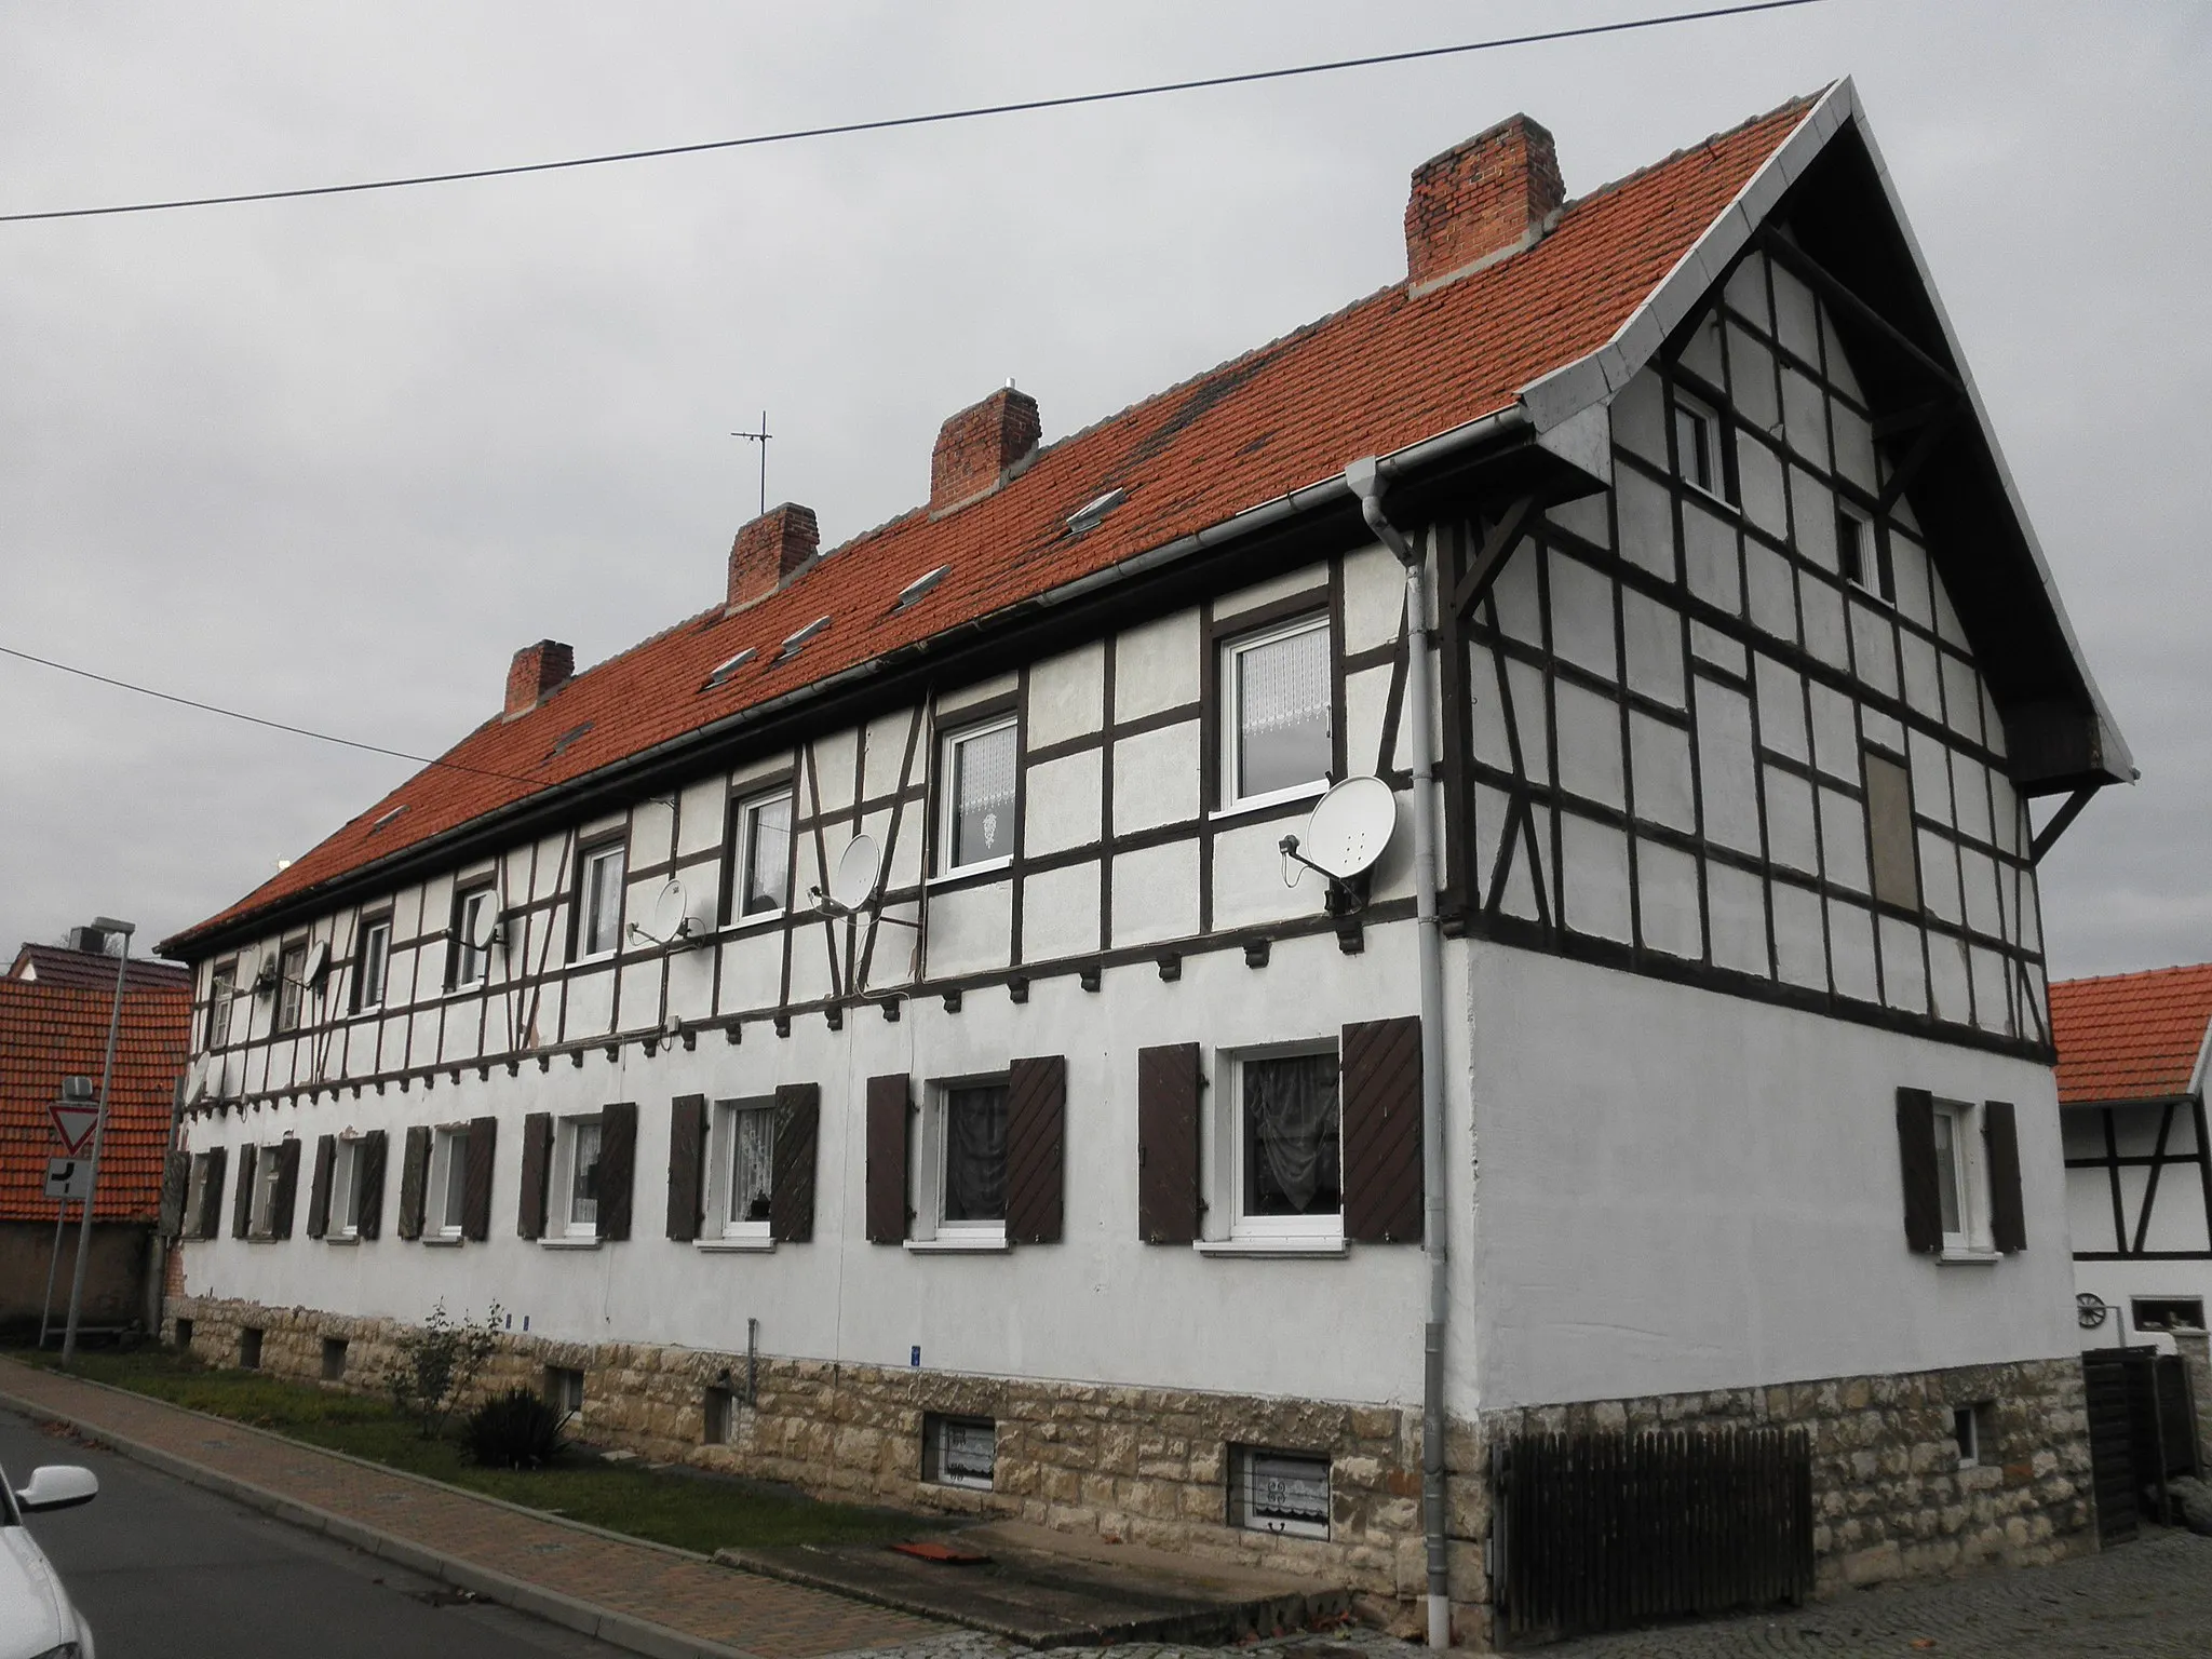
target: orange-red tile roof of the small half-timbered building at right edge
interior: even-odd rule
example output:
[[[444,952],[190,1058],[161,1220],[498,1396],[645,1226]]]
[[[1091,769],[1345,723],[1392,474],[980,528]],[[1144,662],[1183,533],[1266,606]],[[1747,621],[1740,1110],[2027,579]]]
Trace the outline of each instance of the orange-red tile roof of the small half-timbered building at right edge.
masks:
[[[2212,962],[2051,987],[2059,1102],[2185,1095],[2212,1024]]]

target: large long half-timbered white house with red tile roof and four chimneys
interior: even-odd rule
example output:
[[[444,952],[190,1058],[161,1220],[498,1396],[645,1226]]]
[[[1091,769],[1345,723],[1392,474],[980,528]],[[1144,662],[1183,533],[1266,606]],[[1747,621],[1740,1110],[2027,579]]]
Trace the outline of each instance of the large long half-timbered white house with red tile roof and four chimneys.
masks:
[[[1462,1610],[1528,1427],[1805,1427],[1829,1586],[2088,1546],[2026,801],[2128,752],[1849,82],[1575,201],[1515,117],[1407,257],[754,520],[170,940],[181,1334],[495,1298],[591,1436],[1420,1597],[1427,1239]],[[1329,902],[1279,843],[1358,774]]]

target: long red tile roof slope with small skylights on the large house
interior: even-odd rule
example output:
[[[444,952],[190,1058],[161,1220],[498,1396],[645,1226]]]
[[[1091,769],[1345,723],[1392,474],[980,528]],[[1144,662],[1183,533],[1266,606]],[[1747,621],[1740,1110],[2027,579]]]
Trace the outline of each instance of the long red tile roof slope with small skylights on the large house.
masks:
[[[1666,279],[1814,100],[1568,204],[1528,252],[1411,296],[1405,283],[1044,449],[1000,491],[942,518],[916,509],[810,566],[757,606],[719,606],[577,675],[533,712],[491,719],[195,936],[456,830],[551,785],[765,703],[896,646],[989,617],[1137,553],[1511,407],[1522,387],[1604,347]],[[1066,518],[1119,487],[1086,535]],[[949,564],[925,599],[902,586]],[[721,571],[701,571],[719,591]],[[776,646],[830,628],[796,657]],[[717,664],[759,657],[701,695]],[[573,741],[560,745],[564,734]],[[396,807],[398,816],[385,821]]]

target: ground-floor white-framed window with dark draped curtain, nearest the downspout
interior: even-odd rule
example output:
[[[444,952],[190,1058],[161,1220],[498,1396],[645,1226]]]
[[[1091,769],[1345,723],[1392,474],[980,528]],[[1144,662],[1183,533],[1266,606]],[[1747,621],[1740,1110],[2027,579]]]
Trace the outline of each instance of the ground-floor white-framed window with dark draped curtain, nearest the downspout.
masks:
[[[1345,1237],[1345,1133],[1336,1044],[1283,1044],[1221,1057],[1212,1177],[1228,1239],[1338,1243]]]

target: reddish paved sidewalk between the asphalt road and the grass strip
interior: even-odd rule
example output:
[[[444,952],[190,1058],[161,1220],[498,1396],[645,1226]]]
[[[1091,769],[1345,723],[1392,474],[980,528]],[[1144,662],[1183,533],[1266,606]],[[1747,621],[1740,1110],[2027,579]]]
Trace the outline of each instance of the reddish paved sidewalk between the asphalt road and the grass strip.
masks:
[[[13,1360],[0,1360],[0,1405],[60,1418],[186,1480],[637,1652],[812,1659],[945,1635],[929,1619],[617,1540]]]

